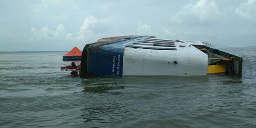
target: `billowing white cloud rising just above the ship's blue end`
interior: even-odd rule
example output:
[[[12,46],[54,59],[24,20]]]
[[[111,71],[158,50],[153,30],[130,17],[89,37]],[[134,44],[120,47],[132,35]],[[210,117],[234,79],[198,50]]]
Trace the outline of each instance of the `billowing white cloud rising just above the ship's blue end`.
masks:
[[[120,31],[128,31],[130,28],[127,21],[114,15],[106,18],[97,19],[94,16],[88,16],[84,19],[80,30],[76,34],[67,34],[66,39],[89,42],[98,40],[102,37],[120,36],[127,33]]]

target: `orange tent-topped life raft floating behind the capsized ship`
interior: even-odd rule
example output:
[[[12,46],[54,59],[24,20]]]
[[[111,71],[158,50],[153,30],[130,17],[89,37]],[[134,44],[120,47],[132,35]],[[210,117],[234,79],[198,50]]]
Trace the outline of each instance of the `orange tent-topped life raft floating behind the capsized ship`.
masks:
[[[69,51],[67,54],[63,55],[62,57],[63,57],[63,60],[81,60],[82,51],[75,46],[71,51]]]

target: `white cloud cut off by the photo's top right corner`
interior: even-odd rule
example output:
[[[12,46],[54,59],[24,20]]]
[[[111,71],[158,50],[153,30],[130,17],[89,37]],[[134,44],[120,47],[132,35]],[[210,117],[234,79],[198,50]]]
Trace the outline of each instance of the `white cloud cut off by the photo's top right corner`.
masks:
[[[236,9],[236,13],[251,21],[256,21],[256,0],[247,0],[246,3],[241,3]]]

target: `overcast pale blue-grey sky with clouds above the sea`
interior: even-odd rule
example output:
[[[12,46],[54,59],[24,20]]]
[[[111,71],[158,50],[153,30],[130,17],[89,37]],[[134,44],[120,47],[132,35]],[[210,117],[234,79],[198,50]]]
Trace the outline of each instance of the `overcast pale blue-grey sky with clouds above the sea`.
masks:
[[[0,0],[0,51],[59,51],[148,35],[256,46],[256,0]]]

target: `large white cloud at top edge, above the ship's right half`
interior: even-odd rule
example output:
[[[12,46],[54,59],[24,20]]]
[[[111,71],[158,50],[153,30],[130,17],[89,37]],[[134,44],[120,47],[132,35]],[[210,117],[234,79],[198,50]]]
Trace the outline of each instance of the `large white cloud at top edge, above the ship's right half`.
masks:
[[[196,4],[189,3],[171,18],[172,23],[213,23],[222,18],[215,0],[199,0]]]

